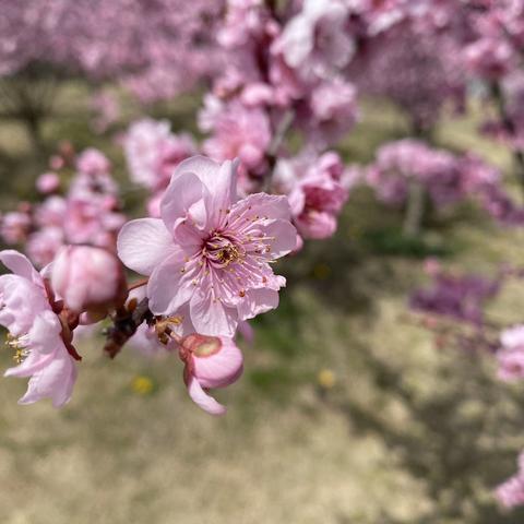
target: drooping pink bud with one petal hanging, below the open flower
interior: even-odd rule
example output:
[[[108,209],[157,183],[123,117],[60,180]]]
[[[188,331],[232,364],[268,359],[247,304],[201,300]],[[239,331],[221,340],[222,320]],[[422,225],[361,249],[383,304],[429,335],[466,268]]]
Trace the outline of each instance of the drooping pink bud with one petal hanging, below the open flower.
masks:
[[[224,336],[186,336],[180,344],[186,364],[183,378],[193,402],[211,415],[224,415],[226,408],[206,393],[236,382],[243,370],[243,357],[231,338]]]

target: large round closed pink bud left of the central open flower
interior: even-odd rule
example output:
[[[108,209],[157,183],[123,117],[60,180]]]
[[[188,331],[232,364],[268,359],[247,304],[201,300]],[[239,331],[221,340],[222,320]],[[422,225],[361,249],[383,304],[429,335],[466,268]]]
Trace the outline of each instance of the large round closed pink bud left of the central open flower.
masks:
[[[90,246],[66,246],[52,263],[51,285],[76,313],[105,313],[127,295],[122,264],[111,252]]]

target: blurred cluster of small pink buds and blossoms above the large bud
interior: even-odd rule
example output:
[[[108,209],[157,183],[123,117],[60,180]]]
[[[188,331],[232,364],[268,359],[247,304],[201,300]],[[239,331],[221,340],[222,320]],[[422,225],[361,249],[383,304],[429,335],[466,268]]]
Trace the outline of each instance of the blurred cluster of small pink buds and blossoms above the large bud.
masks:
[[[60,248],[70,243],[114,251],[126,217],[120,211],[118,187],[110,175],[108,158],[94,148],[75,157],[68,146],[51,157],[50,165],[55,170],[43,174],[36,182],[44,201],[19,205],[19,210],[2,217],[3,241],[25,246],[38,267],[50,263]],[[69,178],[69,188],[61,193],[61,181]]]

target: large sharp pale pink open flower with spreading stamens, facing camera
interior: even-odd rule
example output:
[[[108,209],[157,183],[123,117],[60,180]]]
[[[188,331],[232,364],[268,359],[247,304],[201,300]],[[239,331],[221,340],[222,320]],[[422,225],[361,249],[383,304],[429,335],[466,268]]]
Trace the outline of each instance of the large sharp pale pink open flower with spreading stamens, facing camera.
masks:
[[[189,303],[195,331],[233,336],[239,320],[274,309],[285,279],[271,263],[289,253],[296,230],[285,196],[252,194],[237,202],[236,166],[195,156],[175,171],[162,218],[123,226],[118,253],[148,275],[155,314]]]

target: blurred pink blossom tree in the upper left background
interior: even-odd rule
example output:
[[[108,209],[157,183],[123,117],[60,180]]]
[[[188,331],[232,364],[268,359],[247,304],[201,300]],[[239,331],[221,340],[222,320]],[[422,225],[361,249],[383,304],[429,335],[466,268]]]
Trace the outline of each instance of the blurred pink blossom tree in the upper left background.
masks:
[[[171,98],[219,67],[212,35],[222,9],[219,0],[2,0],[3,115],[24,121],[39,147],[63,78],[118,83],[142,103]]]

